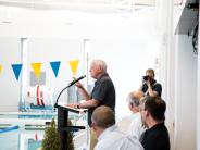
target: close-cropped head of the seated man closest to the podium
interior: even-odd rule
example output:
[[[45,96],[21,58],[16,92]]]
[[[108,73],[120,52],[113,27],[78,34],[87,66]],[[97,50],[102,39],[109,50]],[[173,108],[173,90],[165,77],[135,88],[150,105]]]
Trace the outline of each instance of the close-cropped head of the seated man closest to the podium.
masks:
[[[108,128],[115,124],[115,115],[109,107],[98,107],[91,116],[92,123],[101,128]]]

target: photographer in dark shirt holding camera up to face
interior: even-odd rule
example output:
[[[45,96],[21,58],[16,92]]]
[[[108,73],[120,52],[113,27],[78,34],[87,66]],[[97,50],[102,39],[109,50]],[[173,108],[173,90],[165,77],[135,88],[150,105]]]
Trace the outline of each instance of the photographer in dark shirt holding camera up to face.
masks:
[[[162,85],[154,79],[154,71],[152,68],[146,71],[146,76],[142,76],[142,84],[139,90],[142,91],[145,96],[161,97]]]

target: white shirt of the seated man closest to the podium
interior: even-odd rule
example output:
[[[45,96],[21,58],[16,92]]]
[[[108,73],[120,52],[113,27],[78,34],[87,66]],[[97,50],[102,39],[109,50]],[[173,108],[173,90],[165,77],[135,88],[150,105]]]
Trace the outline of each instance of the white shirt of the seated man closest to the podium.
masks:
[[[95,150],[143,150],[143,148],[138,139],[125,135],[113,125],[99,136]]]

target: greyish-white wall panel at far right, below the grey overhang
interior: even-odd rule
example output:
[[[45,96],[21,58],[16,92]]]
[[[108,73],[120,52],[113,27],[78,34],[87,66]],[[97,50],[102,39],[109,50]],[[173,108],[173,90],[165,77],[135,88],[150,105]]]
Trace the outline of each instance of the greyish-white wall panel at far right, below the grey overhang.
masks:
[[[191,37],[177,36],[175,78],[175,148],[196,150],[197,63]]]

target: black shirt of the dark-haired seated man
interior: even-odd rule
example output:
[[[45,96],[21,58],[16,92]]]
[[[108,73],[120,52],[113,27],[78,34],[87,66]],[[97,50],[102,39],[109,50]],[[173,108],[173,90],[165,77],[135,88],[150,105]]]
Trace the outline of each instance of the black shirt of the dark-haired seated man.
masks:
[[[164,123],[147,129],[139,141],[145,150],[170,150],[170,137]]]

